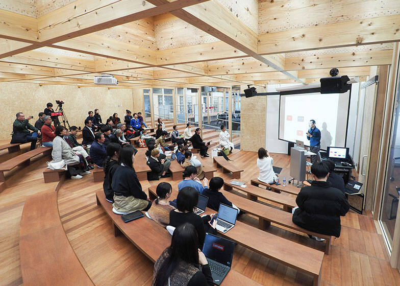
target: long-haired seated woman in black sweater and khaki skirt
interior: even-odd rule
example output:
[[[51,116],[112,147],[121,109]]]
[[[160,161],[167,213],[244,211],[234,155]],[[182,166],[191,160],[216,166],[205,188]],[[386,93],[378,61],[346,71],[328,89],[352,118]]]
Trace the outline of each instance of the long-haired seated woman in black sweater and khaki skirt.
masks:
[[[147,211],[152,206],[133,169],[134,162],[133,148],[122,148],[119,154],[119,166],[111,182],[111,188],[114,190],[113,207],[120,212]]]

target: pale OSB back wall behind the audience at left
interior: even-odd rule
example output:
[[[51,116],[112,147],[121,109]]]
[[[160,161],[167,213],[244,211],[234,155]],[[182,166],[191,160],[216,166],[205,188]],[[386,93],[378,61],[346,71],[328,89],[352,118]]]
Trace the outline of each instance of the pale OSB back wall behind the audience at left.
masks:
[[[122,119],[126,109],[134,109],[132,89],[108,89],[107,87],[77,87],[68,85],[39,86],[31,83],[0,83],[0,140],[10,139],[12,124],[17,112],[33,115],[34,125],[38,113],[47,102],[57,107],[56,100],[65,102],[63,108],[69,124],[84,126],[88,111],[100,109],[105,122],[114,112]],[[137,100],[138,101],[138,100]],[[139,105],[140,106],[140,105]],[[142,106],[142,105],[141,105]],[[140,107],[141,108],[141,107]],[[61,121],[61,117],[59,118]]]

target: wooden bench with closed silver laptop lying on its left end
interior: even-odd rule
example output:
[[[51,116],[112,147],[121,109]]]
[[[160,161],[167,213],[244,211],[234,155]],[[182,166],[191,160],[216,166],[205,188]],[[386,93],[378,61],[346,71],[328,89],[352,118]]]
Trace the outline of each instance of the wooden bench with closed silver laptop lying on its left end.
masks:
[[[258,198],[262,198],[264,200],[278,203],[283,205],[283,209],[288,212],[292,212],[292,208],[296,207],[296,197],[292,195],[281,195],[274,192],[269,192],[266,189],[262,189],[253,185],[246,185],[246,187],[241,187],[237,185],[233,185],[229,182],[223,182],[224,190],[231,190],[232,188],[241,190],[242,192],[247,194],[247,199],[257,201]]]

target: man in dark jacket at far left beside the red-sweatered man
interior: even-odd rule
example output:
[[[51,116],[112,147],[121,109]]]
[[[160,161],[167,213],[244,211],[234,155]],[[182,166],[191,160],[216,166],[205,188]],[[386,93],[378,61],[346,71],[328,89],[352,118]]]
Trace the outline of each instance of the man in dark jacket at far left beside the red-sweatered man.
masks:
[[[16,117],[13,123],[11,143],[31,142],[31,150],[34,150],[36,148],[37,137],[41,135],[41,132],[39,129],[29,124],[29,120],[31,120],[33,116],[28,116],[28,118],[25,119],[25,115],[23,115],[22,112],[18,112]],[[33,132],[29,132],[29,130]]]

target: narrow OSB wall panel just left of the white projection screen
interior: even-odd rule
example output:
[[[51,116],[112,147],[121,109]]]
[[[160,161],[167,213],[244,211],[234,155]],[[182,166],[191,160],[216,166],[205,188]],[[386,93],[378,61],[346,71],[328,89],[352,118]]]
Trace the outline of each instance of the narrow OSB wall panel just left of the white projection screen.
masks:
[[[242,98],[240,108],[240,150],[257,152],[265,147],[267,97]]]

